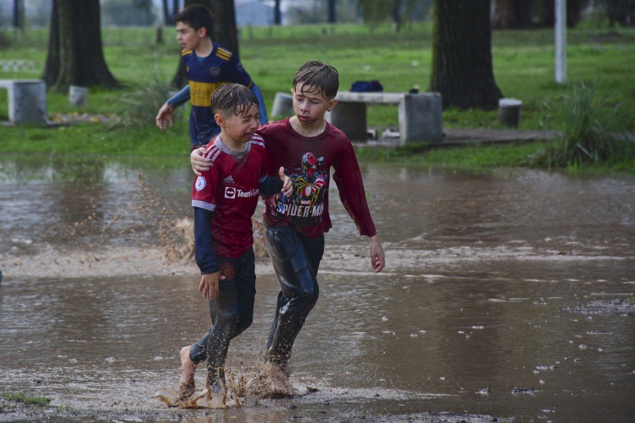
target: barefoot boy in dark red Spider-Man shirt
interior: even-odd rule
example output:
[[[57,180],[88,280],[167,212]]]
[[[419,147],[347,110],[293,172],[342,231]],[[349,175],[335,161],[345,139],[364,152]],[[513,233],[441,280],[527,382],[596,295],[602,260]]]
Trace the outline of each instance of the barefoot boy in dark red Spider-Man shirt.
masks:
[[[385,265],[351,142],[342,131],[324,121],[324,113],[337,104],[338,85],[334,67],[319,60],[307,62],[293,78],[295,116],[258,128],[258,135],[267,146],[269,175],[277,175],[283,166],[293,180],[291,195],[264,198],[265,239],[281,288],[265,367],[272,393],[281,396],[294,394],[287,369],[291,347],[318,300],[317,275],[324,253],[324,232],[331,228],[331,168],[344,208],[359,233],[370,239],[373,271],[380,272]],[[195,173],[210,167],[210,161],[201,158],[201,149],[192,151],[190,160]]]

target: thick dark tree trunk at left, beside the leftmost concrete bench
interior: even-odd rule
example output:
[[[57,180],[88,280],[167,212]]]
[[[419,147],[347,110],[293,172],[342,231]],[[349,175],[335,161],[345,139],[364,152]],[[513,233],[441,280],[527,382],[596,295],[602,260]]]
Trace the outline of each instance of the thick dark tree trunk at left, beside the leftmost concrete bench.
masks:
[[[119,86],[104,60],[99,12],[99,0],[53,0],[42,76],[48,87]]]

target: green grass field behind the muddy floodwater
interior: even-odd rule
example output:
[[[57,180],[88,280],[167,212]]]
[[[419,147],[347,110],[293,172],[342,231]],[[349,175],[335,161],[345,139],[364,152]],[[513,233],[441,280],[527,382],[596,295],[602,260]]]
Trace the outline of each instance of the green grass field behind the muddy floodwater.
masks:
[[[586,26],[586,27],[585,27]],[[495,80],[505,97],[523,101],[521,130],[544,129],[552,123],[555,109],[565,107],[565,98],[580,83],[595,84],[594,93],[606,108],[615,105],[635,110],[635,29],[591,28],[582,25],[567,33],[567,83],[554,83],[552,29],[494,31],[492,55]],[[36,70],[3,70],[0,79],[37,79],[46,60],[46,30],[31,30],[14,37],[4,33],[1,60],[32,60]],[[48,93],[48,113],[88,113],[145,119],[145,124],[126,128],[97,123],[63,128],[1,128],[0,152],[57,154],[65,156],[107,156],[123,158],[180,158],[187,155],[187,107],[171,131],[154,126],[156,102],[165,95],[166,85],[179,65],[175,30],[164,29],[164,43],[154,43],[156,29],[103,29],[104,55],[109,69],[124,88],[108,91],[91,88],[88,105],[77,109],[68,105],[67,93]],[[241,29],[241,62],[260,86],[265,104],[271,105],[277,91],[288,92],[295,71],[305,61],[319,58],[337,67],[340,88],[346,90],[359,79],[378,79],[386,91],[405,91],[413,86],[426,90],[431,74],[431,24],[413,24],[396,34],[391,25],[373,29],[364,25],[304,25],[295,27],[255,27]],[[151,83],[149,83],[151,82]],[[151,87],[149,87],[151,85]],[[6,90],[0,90],[0,120],[8,119]],[[153,97],[154,98],[151,98]],[[148,101],[144,101],[148,97]],[[126,108],[128,112],[126,112]],[[280,118],[284,116],[270,116]],[[368,108],[371,126],[398,126],[394,106]],[[502,128],[497,111],[448,109],[443,114],[445,128]],[[631,124],[635,132],[635,124]],[[429,163],[440,166],[484,168],[521,166],[537,151],[536,144],[478,146],[455,149],[406,149],[385,154],[363,154],[363,159]],[[533,151],[531,150],[533,149]],[[630,156],[611,157],[573,171],[635,172]]]

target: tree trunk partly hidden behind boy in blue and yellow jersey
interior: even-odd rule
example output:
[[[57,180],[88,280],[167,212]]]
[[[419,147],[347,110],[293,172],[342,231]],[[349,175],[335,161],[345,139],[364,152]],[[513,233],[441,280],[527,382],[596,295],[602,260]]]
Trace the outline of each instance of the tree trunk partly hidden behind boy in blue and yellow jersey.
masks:
[[[203,4],[211,11],[213,29],[211,40],[238,55],[238,31],[236,29],[236,10],[234,0],[185,0],[185,7],[190,4]],[[181,88],[187,83],[183,62],[178,60],[177,74],[172,84]]]

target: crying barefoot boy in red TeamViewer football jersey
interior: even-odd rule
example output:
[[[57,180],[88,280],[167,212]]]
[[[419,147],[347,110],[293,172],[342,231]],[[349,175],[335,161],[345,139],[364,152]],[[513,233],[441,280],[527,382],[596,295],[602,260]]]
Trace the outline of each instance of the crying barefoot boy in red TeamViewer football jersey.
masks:
[[[192,404],[222,407],[229,342],[253,318],[256,275],[251,215],[258,195],[291,194],[291,180],[282,168],[276,176],[267,175],[264,144],[256,134],[258,100],[249,88],[220,86],[211,97],[211,109],[221,131],[205,149],[204,156],[214,166],[196,178],[192,207],[196,264],[201,269],[199,291],[210,301],[212,324],[208,334],[181,351],[180,400],[194,393],[194,368],[206,359],[206,390]]]

